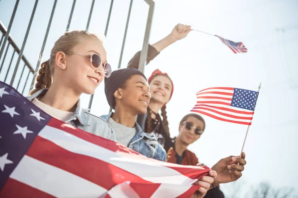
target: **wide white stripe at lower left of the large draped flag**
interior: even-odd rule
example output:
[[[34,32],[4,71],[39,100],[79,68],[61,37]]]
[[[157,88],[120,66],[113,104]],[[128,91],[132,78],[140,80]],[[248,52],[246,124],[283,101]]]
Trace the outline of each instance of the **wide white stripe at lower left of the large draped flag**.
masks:
[[[98,198],[107,193],[106,189],[88,180],[27,155],[10,178],[59,198]]]

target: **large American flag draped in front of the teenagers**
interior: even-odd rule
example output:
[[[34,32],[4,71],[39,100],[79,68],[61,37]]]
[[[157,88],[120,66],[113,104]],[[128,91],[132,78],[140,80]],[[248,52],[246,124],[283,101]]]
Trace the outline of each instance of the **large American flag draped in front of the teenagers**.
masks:
[[[1,198],[186,198],[209,170],[149,159],[84,132],[0,82]]]

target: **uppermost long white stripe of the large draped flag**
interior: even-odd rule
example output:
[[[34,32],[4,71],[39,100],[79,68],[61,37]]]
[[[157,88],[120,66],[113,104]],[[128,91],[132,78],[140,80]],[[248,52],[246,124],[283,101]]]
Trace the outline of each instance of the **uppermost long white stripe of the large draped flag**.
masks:
[[[45,126],[38,135],[66,150],[100,159],[153,183],[187,185],[197,181],[182,175],[174,169],[162,166],[163,162],[129,158],[54,127]],[[162,173],[162,177],[160,177],[160,173]]]

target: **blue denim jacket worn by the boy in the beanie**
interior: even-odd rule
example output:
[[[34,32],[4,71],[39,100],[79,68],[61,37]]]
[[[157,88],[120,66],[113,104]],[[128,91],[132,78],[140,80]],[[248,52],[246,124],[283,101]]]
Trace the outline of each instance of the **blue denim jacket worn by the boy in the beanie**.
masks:
[[[110,112],[108,115],[102,115],[100,117],[103,118],[105,121],[108,121],[111,115],[112,112]],[[166,152],[158,144],[156,137],[154,135],[143,132],[138,123],[136,123],[136,129],[137,133],[129,143],[128,148],[139,152],[149,158],[165,161]]]

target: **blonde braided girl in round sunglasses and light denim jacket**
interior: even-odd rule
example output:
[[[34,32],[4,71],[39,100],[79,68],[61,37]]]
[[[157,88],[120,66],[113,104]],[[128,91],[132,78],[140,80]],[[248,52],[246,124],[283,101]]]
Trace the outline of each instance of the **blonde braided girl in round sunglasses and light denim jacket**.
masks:
[[[102,40],[86,31],[66,32],[38,73],[35,89],[27,99],[52,117],[116,141],[113,129],[102,118],[82,109],[79,100],[82,93],[93,94],[111,75]]]

